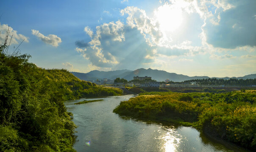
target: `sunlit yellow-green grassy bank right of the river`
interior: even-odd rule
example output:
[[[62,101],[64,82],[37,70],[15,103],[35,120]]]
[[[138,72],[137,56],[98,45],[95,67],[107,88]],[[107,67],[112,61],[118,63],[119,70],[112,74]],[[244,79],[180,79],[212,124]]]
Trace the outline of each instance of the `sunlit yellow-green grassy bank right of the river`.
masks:
[[[148,92],[122,101],[115,113],[192,125],[256,150],[256,90],[226,93]]]

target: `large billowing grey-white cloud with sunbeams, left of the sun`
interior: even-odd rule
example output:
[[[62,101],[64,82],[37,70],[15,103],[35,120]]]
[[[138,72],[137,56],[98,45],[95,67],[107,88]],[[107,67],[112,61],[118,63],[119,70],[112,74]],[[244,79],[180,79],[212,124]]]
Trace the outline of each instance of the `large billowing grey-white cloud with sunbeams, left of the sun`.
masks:
[[[144,10],[127,7],[120,11],[126,17],[126,24],[117,21],[90,27],[85,32],[91,37],[85,49],[76,48],[92,66],[100,68],[141,68],[153,64],[156,58],[174,57],[189,53],[191,41],[181,41],[183,46],[161,46],[163,35],[156,20],[149,18]],[[132,62],[131,62],[132,61]]]

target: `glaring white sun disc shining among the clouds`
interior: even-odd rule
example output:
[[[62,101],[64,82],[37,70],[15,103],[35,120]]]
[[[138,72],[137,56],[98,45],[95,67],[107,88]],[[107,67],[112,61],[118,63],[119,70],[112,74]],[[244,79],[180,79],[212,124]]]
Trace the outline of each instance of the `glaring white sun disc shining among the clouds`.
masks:
[[[183,20],[181,8],[174,8],[170,5],[160,6],[154,13],[162,32],[175,31]]]

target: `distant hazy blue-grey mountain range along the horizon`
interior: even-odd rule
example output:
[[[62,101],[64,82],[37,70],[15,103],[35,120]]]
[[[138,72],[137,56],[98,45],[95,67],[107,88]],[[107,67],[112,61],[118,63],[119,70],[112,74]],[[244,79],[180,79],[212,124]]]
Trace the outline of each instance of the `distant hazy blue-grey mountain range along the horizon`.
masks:
[[[107,79],[116,79],[116,78],[123,78],[128,81],[132,80],[134,76],[151,76],[152,79],[156,81],[164,81],[166,79],[170,79],[171,81],[181,82],[185,80],[192,80],[192,79],[208,79],[208,76],[186,76],[183,74],[176,74],[176,73],[169,73],[162,70],[153,70],[151,68],[144,69],[139,68],[137,70],[117,70],[117,71],[90,71],[89,73],[78,73],[78,72],[71,72],[76,77],[81,80],[93,81],[93,80],[101,80],[104,78]],[[229,77],[218,78],[217,79],[230,79]],[[242,77],[232,77],[236,79],[254,79],[256,78],[256,74],[250,74]]]

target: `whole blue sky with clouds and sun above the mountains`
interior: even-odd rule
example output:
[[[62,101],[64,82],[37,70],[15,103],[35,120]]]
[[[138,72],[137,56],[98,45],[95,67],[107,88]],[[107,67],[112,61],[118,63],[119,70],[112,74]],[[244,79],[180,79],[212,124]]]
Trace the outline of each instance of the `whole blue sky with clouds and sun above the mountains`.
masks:
[[[0,44],[38,67],[256,73],[256,0],[5,0]]]

